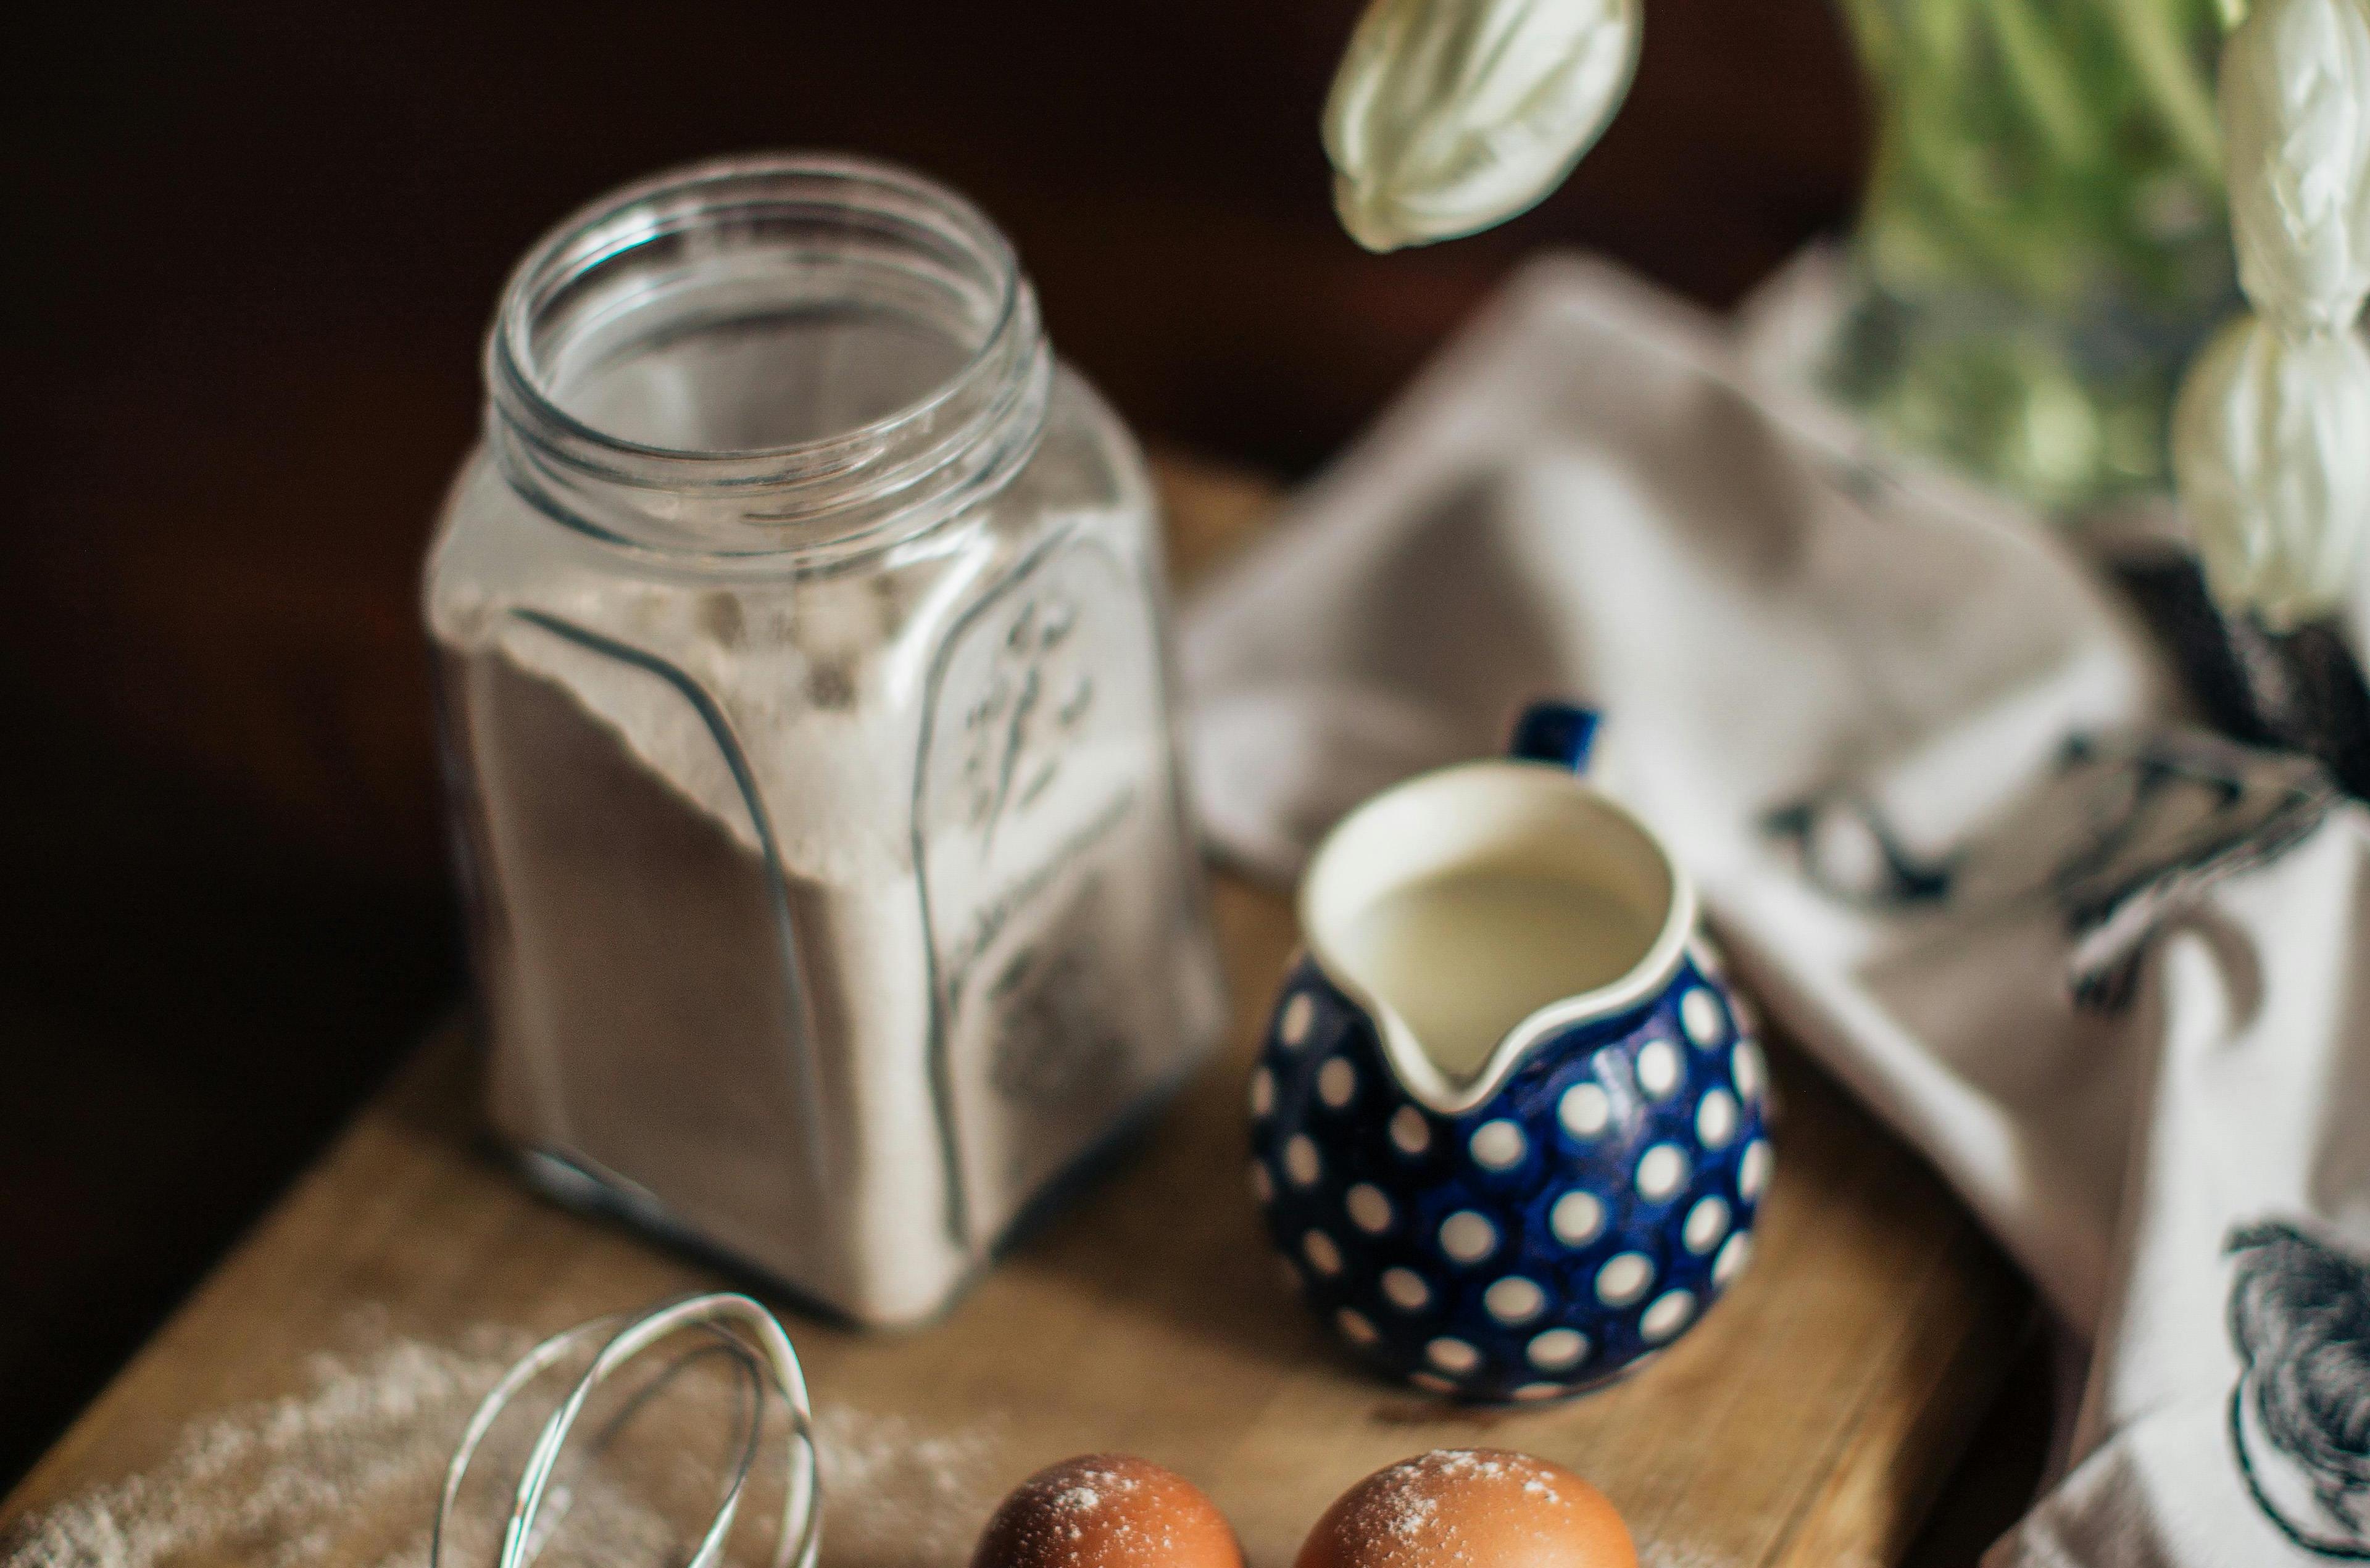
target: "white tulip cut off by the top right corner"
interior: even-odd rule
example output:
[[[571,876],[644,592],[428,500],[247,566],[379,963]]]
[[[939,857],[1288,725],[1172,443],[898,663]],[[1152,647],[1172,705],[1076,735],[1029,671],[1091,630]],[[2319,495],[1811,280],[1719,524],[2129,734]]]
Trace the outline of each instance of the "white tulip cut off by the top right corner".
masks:
[[[2223,45],[2240,284],[2289,327],[2346,327],[2370,294],[2370,5],[2256,0]]]

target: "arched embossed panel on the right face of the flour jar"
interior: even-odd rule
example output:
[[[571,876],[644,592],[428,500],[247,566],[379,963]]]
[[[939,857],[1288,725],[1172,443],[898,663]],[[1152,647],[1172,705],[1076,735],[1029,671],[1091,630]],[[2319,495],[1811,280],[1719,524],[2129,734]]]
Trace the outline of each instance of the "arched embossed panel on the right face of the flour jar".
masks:
[[[986,1246],[1178,1066],[1154,1042],[1180,1000],[1130,962],[1192,907],[1135,564],[1076,535],[1036,554],[948,635],[927,711],[934,1080],[955,1225]]]

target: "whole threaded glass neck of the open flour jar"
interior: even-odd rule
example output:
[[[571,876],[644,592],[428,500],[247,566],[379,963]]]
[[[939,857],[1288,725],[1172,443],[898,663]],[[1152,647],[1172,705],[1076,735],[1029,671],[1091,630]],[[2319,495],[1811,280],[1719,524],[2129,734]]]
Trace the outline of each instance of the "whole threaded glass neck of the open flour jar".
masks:
[[[723,294],[702,306],[709,289]],[[569,407],[574,377],[611,353],[782,308],[889,310],[950,353],[891,388],[903,403],[777,445],[661,445]],[[526,253],[486,339],[486,441],[529,505],[614,547],[813,559],[1003,488],[1036,450],[1050,384],[1036,294],[976,206],[875,159],[749,154],[616,189]]]

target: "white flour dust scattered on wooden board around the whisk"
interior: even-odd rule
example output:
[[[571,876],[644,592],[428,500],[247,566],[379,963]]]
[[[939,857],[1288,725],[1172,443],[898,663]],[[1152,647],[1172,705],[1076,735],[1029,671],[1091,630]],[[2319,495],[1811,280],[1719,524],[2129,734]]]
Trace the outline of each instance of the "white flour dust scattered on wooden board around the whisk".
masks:
[[[457,1343],[348,1334],[346,1350],[306,1362],[303,1388],[190,1424],[145,1473],[69,1497],[0,1537],[0,1568],[427,1568],[446,1461],[476,1402],[536,1336],[474,1329]],[[555,1483],[557,1525],[540,1563],[638,1568],[675,1563],[706,1525],[747,1386],[723,1362],[659,1390],[597,1464]],[[462,1495],[448,1563],[495,1561],[533,1426],[545,1400],[500,1421],[488,1478]],[[581,1431],[607,1426],[600,1412]],[[512,1431],[514,1428],[514,1431]],[[766,1480],[742,1506],[739,1561],[766,1561],[780,1518],[782,1431],[766,1433]],[[571,1445],[574,1447],[574,1445]],[[896,1414],[820,1405],[822,1568],[924,1568],[969,1559],[995,1504],[984,1426],[936,1431]]]

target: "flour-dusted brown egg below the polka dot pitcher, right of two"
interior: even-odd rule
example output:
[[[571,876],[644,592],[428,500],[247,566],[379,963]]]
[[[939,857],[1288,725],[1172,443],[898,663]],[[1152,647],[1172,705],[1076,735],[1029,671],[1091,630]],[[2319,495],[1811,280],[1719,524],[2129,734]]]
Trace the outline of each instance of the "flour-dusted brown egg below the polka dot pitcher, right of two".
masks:
[[[1325,1509],[1294,1568],[1638,1568],[1628,1525],[1559,1464],[1436,1447]]]

